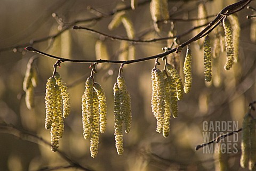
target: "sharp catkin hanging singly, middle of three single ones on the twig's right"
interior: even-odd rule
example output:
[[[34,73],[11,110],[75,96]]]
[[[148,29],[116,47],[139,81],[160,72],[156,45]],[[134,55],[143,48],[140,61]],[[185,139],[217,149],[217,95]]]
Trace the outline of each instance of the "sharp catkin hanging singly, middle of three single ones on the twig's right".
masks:
[[[204,78],[206,82],[212,80],[212,50],[209,35],[204,39]]]

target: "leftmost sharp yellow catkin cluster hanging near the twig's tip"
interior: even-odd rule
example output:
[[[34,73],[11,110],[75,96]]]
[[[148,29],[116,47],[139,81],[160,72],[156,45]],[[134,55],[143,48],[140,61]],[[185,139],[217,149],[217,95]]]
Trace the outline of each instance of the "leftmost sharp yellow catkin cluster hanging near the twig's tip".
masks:
[[[45,128],[51,129],[52,151],[57,151],[59,140],[63,136],[64,121],[70,113],[69,93],[58,72],[46,83],[45,93]]]

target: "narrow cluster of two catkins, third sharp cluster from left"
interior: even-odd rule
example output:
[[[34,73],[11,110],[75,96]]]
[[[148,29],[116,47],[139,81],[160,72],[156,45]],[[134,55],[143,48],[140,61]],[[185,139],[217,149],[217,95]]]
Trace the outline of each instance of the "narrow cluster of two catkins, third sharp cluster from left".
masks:
[[[117,78],[114,85],[114,121],[115,121],[115,142],[119,155],[124,152],[122,127],[125,125],[125,132],[129,133],[132,124],[131,97],[126,89],[125,80],[122,76]]]

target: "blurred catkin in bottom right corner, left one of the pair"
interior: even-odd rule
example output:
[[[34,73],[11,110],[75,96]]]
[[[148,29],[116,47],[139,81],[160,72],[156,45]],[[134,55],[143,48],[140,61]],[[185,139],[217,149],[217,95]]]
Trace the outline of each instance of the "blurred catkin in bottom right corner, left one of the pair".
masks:
[[[250,113],[244,116],[243,120],[243,133],[242,133],[242,141],[241,141],[241,158],[240,158],[240,165],[243,168],[248,166],[249,158],[250,158],[250,124],[251,124],[252,117]]]

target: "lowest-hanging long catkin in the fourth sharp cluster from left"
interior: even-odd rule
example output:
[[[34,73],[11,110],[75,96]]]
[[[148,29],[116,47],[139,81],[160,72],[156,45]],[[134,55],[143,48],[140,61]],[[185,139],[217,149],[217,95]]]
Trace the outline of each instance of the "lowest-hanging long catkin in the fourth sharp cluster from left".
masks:
[[[170,118],[171,118],[171,77],[165,78],[165,111],[163,122],[163,135],[167,137],[170,133]]]

